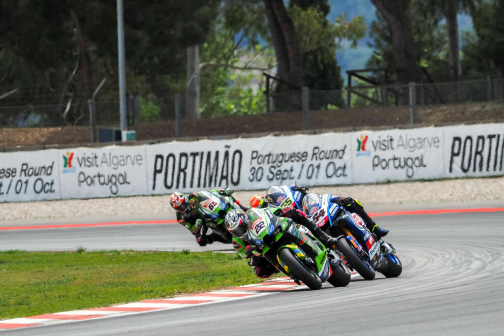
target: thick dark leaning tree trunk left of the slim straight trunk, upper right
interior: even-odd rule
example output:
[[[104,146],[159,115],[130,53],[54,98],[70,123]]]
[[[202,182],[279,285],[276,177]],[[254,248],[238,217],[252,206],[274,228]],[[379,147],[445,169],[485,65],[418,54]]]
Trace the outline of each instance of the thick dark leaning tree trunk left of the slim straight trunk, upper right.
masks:
[[[410,0],[371,0],[371,3],[389,26],[398,82],[422,82],[422,71],[413,59],[413,37],[406,15]]]

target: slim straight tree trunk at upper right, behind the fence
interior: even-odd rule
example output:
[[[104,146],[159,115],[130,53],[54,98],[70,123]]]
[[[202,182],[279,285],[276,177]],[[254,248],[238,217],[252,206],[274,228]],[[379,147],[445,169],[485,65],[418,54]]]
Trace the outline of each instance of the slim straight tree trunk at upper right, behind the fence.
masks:
[[[458,0],[445,0],[445,17],[448,28],[448,50],[450,55],[450,68],[453,80],[460,79],[460,59],[459,59],[459,25],[457,22]]]

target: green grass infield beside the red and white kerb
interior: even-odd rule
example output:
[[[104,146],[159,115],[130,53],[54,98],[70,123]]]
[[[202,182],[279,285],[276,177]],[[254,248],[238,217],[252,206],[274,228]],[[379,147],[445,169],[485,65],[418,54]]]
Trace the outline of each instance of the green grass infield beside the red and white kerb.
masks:
[[[0,319],[103,307],[257,283],[233,254],[0,252]]]

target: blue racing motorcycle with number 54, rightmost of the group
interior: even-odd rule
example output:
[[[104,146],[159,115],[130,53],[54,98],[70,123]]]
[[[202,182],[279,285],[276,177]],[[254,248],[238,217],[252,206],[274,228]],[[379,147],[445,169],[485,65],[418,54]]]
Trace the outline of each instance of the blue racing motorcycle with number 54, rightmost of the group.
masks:
[[[359,215],[330,202],[332,194],[308,193],[302,201],[303,212],[314,224],[338,238],[336,244],[344,262],[366,280],[373,280],[375,271],[387,278],[399,277],[402,264],[392,244],[375,241]]]

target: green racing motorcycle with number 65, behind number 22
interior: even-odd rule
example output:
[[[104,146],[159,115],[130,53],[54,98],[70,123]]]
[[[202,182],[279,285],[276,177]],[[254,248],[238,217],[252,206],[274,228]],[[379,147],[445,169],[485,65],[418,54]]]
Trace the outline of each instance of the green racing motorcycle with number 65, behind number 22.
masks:
[[[201,235],[205,235],[208,228],[210,228],[231,244],[233,237],[224,226],[224,217],[232,209],[241,209],[234,197],[221,195],[216,190],[200,191],[195,195],[199,202],[196,208],[206,220],[205,225],[200,226],[197,230],[200,231]]]

